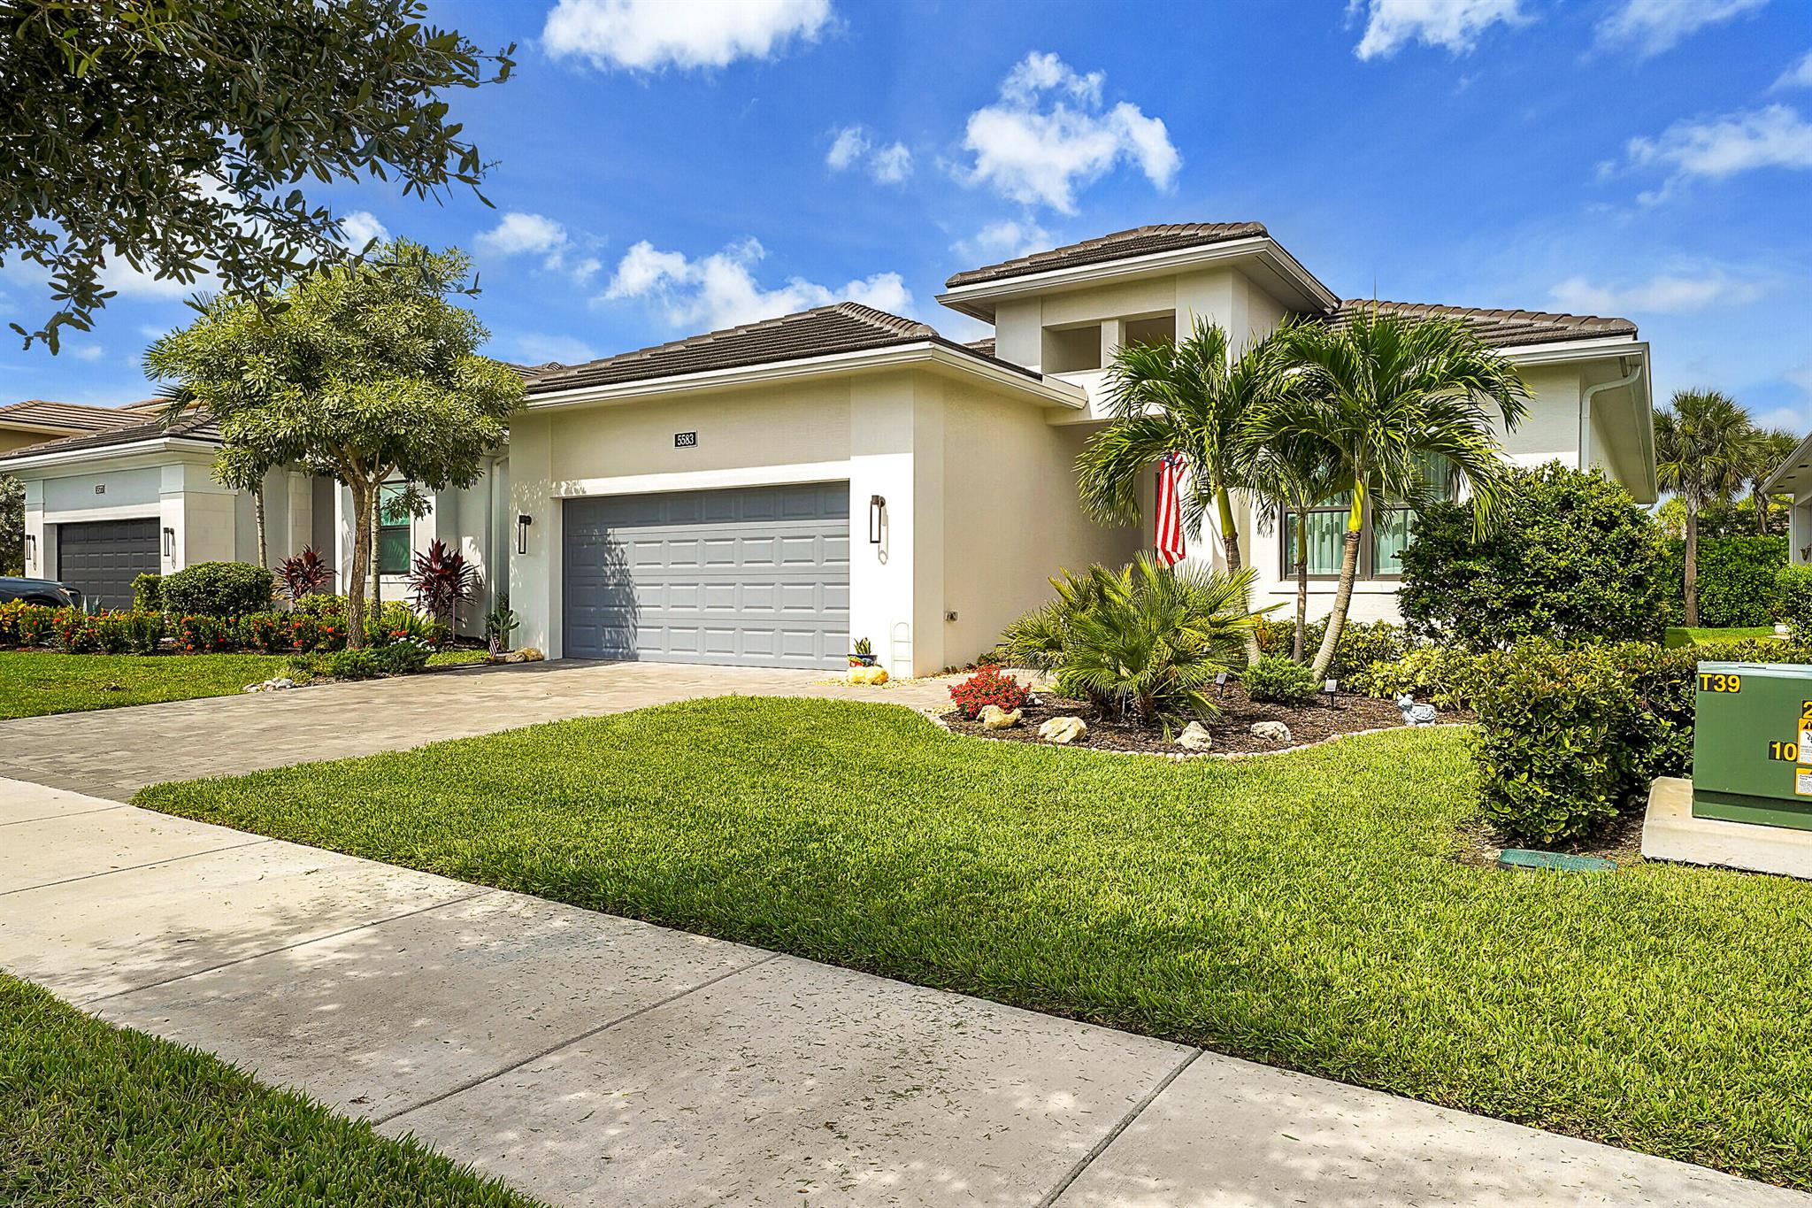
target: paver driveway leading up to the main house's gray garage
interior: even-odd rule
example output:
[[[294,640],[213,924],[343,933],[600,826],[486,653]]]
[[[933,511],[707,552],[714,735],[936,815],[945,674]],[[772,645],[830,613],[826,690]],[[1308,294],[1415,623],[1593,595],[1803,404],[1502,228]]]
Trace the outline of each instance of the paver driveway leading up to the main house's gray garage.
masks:
[[[835,672],[670,663],[520,663],[294,692],[0,721],[0,777],[125,801],[147,784],[406,750],[542,721],[708,695],[949,703],[944,681],[881,688]]]

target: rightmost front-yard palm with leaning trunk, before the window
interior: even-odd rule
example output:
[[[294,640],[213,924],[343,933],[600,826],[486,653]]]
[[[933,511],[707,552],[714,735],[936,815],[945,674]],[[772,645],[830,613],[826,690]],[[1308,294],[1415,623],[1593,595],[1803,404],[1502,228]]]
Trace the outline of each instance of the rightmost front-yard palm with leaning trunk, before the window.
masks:
[[[1504,357],[1450,319],[1361,312],[1341,328],[1294,324],[1277,340],[1296,380],[1254,417],[1252,436],[1265,444],[1306,436],[1352,485],[1339,587],[1314,661],[1321,679],[1346,627],[1372,498],[1422,502],[1422,462],[1439,458],[1468,489],[1473,525],[1486,532],[1509,469],[1497,440],[1499,417],[1515,427],[1529,388]]]

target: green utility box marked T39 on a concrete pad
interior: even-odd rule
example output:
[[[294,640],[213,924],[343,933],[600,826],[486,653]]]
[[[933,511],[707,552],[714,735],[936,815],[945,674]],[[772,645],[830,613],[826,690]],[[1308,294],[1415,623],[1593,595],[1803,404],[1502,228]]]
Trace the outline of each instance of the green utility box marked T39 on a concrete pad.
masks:
[[[1692,817],[1812,829],[1812,666],[1700,663]]]

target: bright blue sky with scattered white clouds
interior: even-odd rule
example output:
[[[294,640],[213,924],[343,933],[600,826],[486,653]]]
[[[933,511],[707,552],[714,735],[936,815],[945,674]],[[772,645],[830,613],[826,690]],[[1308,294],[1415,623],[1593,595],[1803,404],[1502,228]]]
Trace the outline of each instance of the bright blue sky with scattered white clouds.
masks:
[[[319,190],[467,248],[511,360],[582,360],[857,297],[973,337],[960,268],[1256,219],[1343,295],[1616,313],[1656,395],[1812,429],[1812,2],[433,5],[518,72],[451,98],[495,210]],[[145,397],[187,288],[116,279],[5,398]],[[0,268],[0,317],[43,293]]]

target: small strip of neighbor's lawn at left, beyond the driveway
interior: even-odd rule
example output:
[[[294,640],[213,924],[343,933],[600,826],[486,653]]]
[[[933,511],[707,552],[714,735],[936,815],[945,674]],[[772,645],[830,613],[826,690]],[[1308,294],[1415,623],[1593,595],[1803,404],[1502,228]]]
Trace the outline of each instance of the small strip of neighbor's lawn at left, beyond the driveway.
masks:
[[[230,695],[281,676],[281,654],[0,652],[0,721]]]

